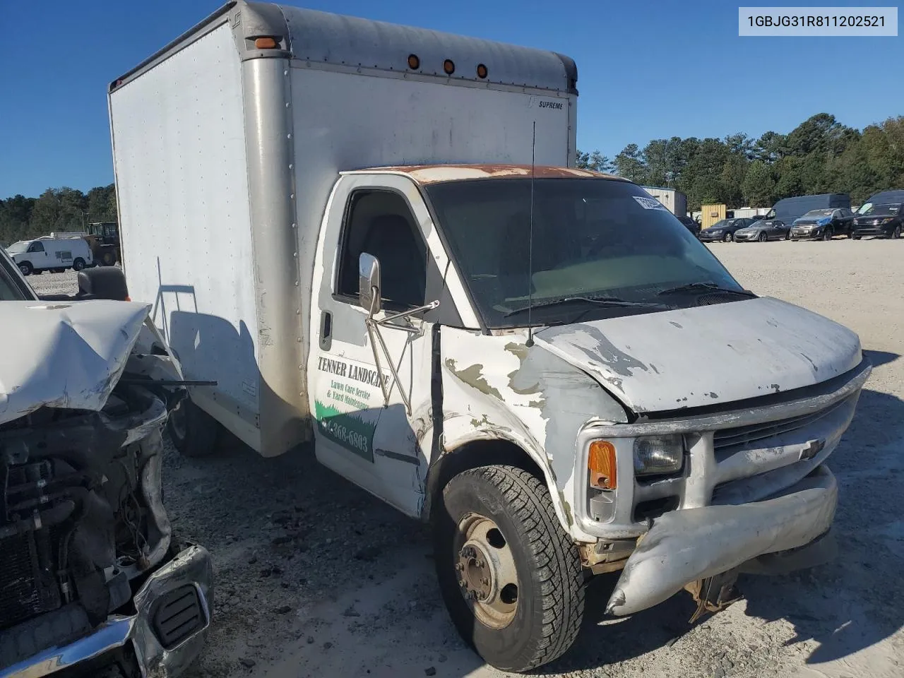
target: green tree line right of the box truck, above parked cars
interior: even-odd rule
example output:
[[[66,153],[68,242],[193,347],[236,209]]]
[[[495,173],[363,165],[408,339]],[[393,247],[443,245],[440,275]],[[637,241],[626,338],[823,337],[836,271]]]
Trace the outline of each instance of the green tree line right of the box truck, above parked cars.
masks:
[[[687,195],[689,210],[720,202],[729,209],[771,207],[815,193],[849,193],[856,204],[904,188],[904,116],[861,131],[818,113],[788,134],[654,139],[644,148],[628,144],[614,159],[579,151],[578,166],[676,188]]]

